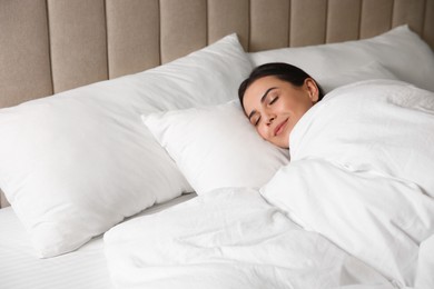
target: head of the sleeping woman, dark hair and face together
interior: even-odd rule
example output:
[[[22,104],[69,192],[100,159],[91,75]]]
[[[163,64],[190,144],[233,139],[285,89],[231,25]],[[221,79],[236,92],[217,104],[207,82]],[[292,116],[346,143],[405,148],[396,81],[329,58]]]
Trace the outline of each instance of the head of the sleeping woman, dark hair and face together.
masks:
[[[289,133],[298,120],[324,97],[319,84],[287,63],[255,68],[238,96],[246,117],[265,140],[289,148]]]

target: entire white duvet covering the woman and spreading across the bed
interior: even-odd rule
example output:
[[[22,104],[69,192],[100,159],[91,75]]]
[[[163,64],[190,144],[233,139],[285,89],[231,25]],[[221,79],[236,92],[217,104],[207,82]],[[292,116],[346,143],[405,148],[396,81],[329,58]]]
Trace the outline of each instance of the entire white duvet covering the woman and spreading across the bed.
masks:
[[[260,190],[225,188],[105,236],[118,288],[434,288],[434,93],[343,87]]]

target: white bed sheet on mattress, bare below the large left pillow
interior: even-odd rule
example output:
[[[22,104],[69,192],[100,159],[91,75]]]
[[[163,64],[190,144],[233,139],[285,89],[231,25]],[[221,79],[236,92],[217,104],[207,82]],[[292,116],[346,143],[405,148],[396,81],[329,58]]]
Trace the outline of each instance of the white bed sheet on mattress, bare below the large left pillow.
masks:
[[[194,198],[184,195],[169,202],[155,206],[142,213],[149,215]],[[71,253],[55,258],[36,257],[30,238],[11,207],[0,210],[0,288],[114,288],[103,253],[102,236]]]

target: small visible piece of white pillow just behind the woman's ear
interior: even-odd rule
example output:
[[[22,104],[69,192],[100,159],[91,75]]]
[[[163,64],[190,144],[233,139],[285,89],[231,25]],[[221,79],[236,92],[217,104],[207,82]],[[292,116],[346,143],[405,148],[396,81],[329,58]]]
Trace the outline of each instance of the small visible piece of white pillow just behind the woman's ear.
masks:
[[[317,81],[324,89],[324,92],[328,93],[335,88],[371,79],[398,80],[391,71],[384,68],[381,63],[374,61],[364,67],[351,71],[345,71],[336,76],[319,78],[317,79]]]

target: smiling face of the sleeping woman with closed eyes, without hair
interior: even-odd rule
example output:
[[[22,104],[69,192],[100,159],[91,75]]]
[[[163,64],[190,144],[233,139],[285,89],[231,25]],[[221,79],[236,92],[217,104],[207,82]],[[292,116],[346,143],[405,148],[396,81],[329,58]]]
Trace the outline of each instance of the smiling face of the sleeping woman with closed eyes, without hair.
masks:
[[[318,100],[315,81],[302,87],[274,76],[255,80],[244,93],[244,109],[250,123],[265,140],[289,148],[289,133],[298,120]]]

